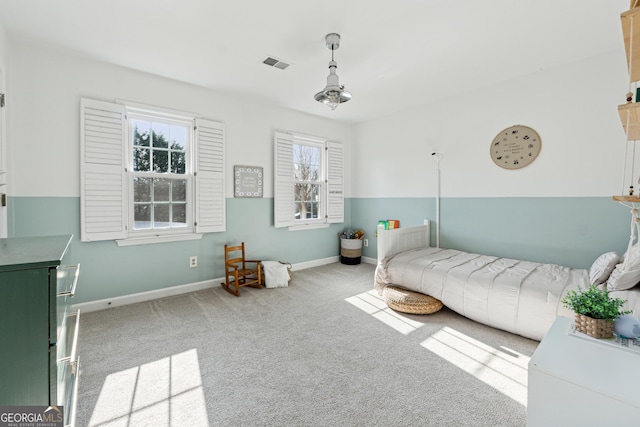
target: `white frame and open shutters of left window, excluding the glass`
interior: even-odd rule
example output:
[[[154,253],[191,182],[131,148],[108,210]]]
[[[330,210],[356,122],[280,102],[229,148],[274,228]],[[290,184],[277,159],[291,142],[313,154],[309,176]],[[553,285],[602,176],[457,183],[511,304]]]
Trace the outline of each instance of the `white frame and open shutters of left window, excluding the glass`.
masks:
[[[226,231],[223,123],[191,113],[176,114],[168,109],[122,101],[110,103],[81,98],[80,105],[81,241],[115,240],[119,246],[129,246],[201,239],[203,233]],[[192,176],[188,185],[193,200],[190,230],[154,230],[146,235],[132,232],[129,219],[133,215],[133,179],[129,174],[133,144],[127,114],[141,110],[192,121]]]

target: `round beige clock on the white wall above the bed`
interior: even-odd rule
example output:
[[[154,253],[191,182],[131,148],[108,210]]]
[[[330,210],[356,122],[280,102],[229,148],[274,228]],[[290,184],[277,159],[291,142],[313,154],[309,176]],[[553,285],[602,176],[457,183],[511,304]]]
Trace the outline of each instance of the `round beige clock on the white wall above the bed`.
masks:
[[[491,142],[493,162],[505,169],[520,169],[531,164],[542,148],[540,135],[528,126],[515,125],[500,131]]]

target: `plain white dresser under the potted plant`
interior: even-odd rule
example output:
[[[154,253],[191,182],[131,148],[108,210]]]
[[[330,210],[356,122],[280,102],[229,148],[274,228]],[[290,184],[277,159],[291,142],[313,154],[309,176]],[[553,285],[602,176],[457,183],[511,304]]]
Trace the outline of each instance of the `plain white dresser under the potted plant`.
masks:
[[[640,353],[559,317],[529,361],[527,427],[640,425]]]

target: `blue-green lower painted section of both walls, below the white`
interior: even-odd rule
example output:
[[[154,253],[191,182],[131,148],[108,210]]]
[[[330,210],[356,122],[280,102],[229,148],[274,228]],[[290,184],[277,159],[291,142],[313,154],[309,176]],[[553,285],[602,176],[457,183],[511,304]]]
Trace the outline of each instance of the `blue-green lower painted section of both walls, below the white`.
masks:
[[[607,197],[443,198],[440,246],[489,255],[588,268],[606,251],[622,254],[629,211]],[[273,199],[227,199],[227,231],[201,240],[118,247],[79,241],[80,200],[74,197],[9,198],[11,236],[74,234],[70,262],[79,262],[82,282],[76,302],[94,301],[223,275],[223,246],[244,241],[259,259],[302,263],[339,254],[337,234],[363,229],[376,258],[376,224],[398,219],[403,227],[434,223],[434,198],[353,198],[345,201],[344,224],[290,232],[273,227]],[[188,266],[198,256],[198,267]],[[99,260],[100,262],[96,262]]]

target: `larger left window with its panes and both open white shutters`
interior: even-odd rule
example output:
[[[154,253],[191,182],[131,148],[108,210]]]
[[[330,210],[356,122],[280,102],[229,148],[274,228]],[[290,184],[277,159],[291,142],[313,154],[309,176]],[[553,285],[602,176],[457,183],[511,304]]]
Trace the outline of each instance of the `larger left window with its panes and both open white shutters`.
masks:
[[[81,129],[82,241],[225,230],[223,124],[83,99]]]

